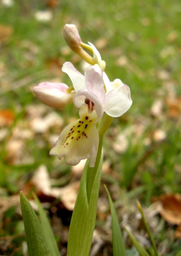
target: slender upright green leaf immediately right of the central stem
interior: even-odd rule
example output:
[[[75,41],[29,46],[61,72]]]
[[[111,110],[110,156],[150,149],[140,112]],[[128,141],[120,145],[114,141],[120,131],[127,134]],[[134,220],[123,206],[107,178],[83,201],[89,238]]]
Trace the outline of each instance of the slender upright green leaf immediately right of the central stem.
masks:
[[[121,234],[121,229],[119,226],[118,217],[116,215],[116,210],[114,208],[114,204],[110,197],[109,191],[107,187],[104,185],[105,190],[107,192],[110,204],[110,211],[112,217],[112,245],[113,245],[113,255],[114,256],[126,256],[125,246],[123,243],[123,237]]]

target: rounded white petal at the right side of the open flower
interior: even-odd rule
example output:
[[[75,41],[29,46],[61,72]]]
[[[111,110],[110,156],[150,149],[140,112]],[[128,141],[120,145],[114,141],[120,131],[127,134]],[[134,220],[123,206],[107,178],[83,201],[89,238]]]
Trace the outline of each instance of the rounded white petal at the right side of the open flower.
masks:
[[[131,105],[130,89],[127,85],[123,85],[117,91],[112,90],[106,95],[103,108],[111,117],[120,117]]]

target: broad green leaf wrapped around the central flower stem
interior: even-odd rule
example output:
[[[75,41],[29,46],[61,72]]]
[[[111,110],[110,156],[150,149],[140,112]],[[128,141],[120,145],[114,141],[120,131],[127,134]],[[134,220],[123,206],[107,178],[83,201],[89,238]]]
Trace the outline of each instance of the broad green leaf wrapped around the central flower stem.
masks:
[[[97,203],[103,164],[103,135],[100,135],[94,168],[87,160],[69,229],[67,256],[88,256],[96,223]]]

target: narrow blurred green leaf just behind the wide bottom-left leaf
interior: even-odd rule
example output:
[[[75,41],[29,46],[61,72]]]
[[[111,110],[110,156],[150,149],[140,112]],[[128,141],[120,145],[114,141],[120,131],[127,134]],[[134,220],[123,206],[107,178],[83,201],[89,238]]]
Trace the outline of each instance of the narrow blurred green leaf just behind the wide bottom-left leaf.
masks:
[[[40,222],[42,224],[42,228],[43,228],[43,231],[45,233],[45,237],[46,237],[46,239],[49,243],[49,247],[51,249],[51,252],[52,252],[53,256],[60,256],[58,245],[56,243],[54,234],[52,232],[51,225],[50,225],[49,220],[48,220],[48,218],[45,214],[45,211],[42,208],[40,200],[38,199],[38,197],[36,196],[35,193],[33,193],[33,197],[36,201],[36,204],[38,205],[38,211],[39,211],[39,214],[40,214]]]

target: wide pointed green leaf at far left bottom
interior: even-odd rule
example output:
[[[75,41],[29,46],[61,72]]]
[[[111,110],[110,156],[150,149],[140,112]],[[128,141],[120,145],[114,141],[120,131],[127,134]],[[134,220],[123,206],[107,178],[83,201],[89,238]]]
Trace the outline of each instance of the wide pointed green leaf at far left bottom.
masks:
[[[31,204],[24,196],[22,191],[20,191],[20,204],[22,209],[29,256],[52,256],[49,244],[45,238],[42,227],[40,226],[40,223]]]

